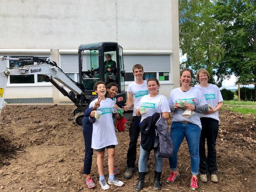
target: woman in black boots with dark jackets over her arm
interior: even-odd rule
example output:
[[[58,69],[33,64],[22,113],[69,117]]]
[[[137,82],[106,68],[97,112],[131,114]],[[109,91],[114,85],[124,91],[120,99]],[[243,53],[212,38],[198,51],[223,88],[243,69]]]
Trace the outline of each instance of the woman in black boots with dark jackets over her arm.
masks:
[[[162,116],[165,120],[167,120],[170,116],[170,108],[168,104],[168,100],[166,96],[159,94],[158,88],[160,87],[159,82],[156,78],[149,78],[147,81],[148,86],[148,95],[144,95],[136,109],[136,115],[141,116],[140,122],[142,122],[145,118],[152,116],[156,112],[162,113]],[[146,109],[146,113],[140,114],[140,107],[144,107]],[[150,152],[144,150],[142,146],[140,146],[140,159],[139,159],[139,181],[135,186],[135,191],[140,191],[144,185],[144,178],[147,169],[147,161]],[[160,190],[160,177],[162,174],[163,167],[163,159],[161,157],[156,156],[155,154],[155,177],[154,177],[154,189]]]

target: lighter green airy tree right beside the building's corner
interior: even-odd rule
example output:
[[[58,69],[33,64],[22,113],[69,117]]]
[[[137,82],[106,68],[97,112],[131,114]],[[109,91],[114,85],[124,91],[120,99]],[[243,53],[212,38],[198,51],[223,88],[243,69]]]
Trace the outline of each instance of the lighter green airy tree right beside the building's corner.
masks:
[[[183,67],[206,68],[211,75],[209,82],[221,86],[230,72],[220,66],[224,56],[223,27],[214,18],[213,8],[211,0],[179,0],[180,49],[187,56]]]

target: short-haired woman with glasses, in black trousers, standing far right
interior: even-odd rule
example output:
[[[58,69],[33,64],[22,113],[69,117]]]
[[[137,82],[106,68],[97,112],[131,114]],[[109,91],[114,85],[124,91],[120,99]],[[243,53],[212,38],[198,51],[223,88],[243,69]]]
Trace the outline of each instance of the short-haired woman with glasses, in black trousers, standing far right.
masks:
[[[218,86],[209,84],[210,74],[206,69],[200,69],[196,73],[196,79],[200,82],[196,86],[204,94],[209,105],[209,110],[205,114],[201,114],[202,131],[199,143],[200,156],[200,180],[207,182],[207,174],[210,174],[212,182],[217,183],[217,163],[216,163],[216,139],[219,129],[219,112],[223,106],[223,98]],[[207,140],[207,158],[205,154],[205,140]]]

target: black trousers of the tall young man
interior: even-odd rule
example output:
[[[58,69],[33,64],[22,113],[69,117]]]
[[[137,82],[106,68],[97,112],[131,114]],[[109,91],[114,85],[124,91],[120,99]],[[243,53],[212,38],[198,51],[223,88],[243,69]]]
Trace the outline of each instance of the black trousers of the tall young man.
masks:
[[[127,152],[127,166],[128,168],[135,167],[136,154],[137,154],[137,140],[140,134],[140,119],[141,117],[133,116],[132,123],[129,129],[130,144]]]

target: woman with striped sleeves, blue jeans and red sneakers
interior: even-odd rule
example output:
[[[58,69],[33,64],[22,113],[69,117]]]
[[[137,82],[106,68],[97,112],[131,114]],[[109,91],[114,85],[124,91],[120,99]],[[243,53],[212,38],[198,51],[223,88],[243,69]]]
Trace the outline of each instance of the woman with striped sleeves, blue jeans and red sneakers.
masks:
[[[173,112],[170,137],[174,149],[172,156],[169,158],[171,174],[166,182],[172,183],[180,176],[177,168],[177,154],[180,144],[186,137],[192,172],[190,189],[196,190],[198,188],[197,175],[199,174],[199,140],[202,128],[200,113],[205,113],[208,110],[208,105],[202,92],[190,86],[192,77],[192,70],[183,69],[180,72],[181,86],[172,90],[169,97],[170,110]],[[186,112],[191,111],[191,115],[185,116],[183,114],[184,110]]]

